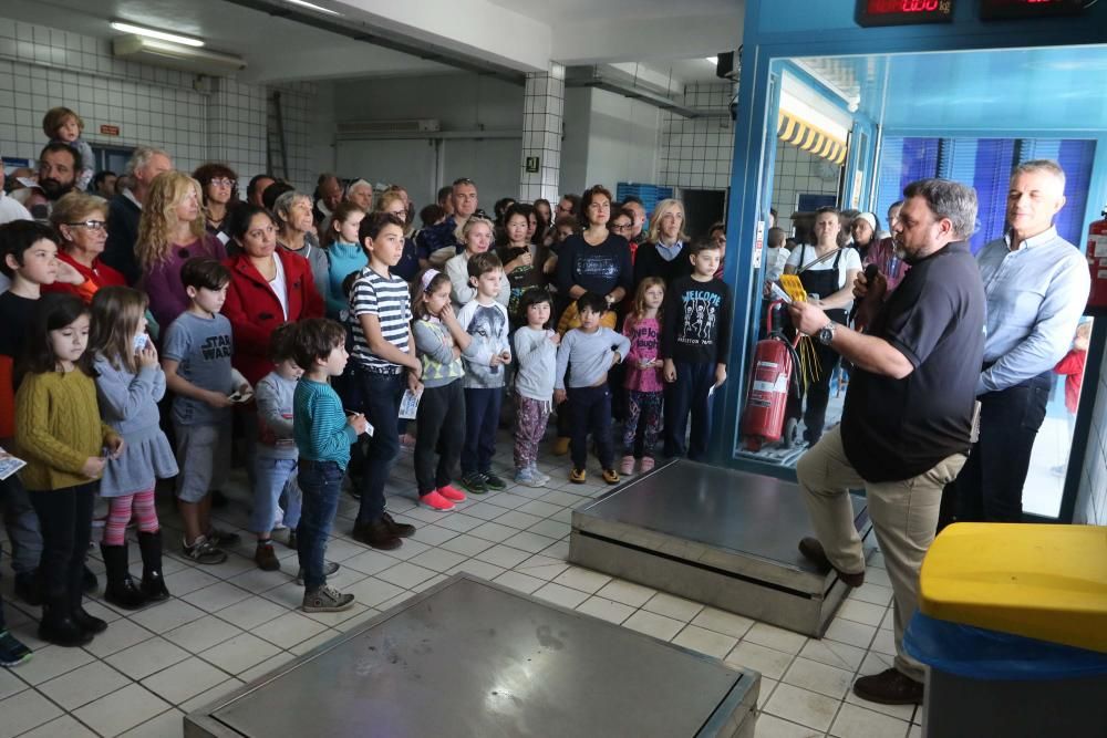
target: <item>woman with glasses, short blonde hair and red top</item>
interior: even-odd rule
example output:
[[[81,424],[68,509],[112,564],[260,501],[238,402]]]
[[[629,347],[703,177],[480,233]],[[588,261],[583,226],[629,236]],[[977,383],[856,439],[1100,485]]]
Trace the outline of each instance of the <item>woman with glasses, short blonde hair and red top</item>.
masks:
[[[126,287],[126,278],[100,260],[107,243],[107,200],[70,193],[54,204],[50,224],[61,236],[58,280],[43,292],[66,292],[86,303],[102,287]]]

